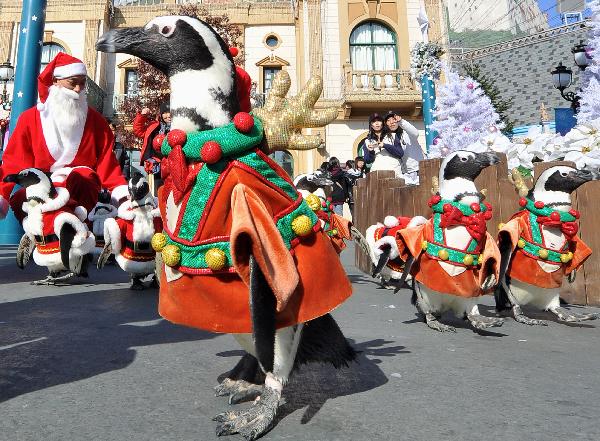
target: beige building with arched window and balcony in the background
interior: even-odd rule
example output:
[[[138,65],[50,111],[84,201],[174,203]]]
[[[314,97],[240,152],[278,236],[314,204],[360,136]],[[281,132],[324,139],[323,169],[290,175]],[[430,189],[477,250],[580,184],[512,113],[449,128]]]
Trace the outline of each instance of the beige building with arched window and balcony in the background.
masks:
[[[49,0],[43,41],[47,62],[64,50],[84,60],[93,80],[94,102],[111,116],[127,94],[136,93],[136,60],[95,50],[110,28],[141,26],[192,0]],[[424,2],[424,3],[423,3]],[[318,105],[340,108],[338,119],[320,130],[324,148],[282,155],[294,174],[311,171],[330,156],[353,159],[373,112],[399,111],[421,131],[421,96],[410,78],[410,48],[421,41],[421,4],[429,37],[446,42],[441,0],[204,0],[214,14],[227,14],[243,29],[245,69],[256,83],[260,105],[273,76],[290,73],[291,93],[311,75],[324,80]],[[0,60],[15,64],[21,1],[0,2]],[[313,133],[315,131],[313,130]],[[422,139],[424,141],[424,137]],[[423,144],[424,142],[422,142]]]

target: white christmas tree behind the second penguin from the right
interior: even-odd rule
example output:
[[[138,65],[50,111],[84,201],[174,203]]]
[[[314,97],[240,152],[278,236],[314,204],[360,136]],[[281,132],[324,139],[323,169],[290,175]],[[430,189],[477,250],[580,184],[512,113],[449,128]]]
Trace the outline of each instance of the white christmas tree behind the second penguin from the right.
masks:
[[[467,149],[502,128],[500,117],[477,81],[446,73],[447,82],[439,88],[431,129],[438,133],[429,157],[444,157]]]

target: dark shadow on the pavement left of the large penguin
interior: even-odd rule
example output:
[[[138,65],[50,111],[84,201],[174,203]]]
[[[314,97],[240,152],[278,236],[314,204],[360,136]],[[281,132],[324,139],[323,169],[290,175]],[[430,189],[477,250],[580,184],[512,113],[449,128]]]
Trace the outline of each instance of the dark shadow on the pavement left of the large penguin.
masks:
[[[0,304],[0,402],[123,369],[135,346],[217,336],[162,320],[157,301],[113,289]]]

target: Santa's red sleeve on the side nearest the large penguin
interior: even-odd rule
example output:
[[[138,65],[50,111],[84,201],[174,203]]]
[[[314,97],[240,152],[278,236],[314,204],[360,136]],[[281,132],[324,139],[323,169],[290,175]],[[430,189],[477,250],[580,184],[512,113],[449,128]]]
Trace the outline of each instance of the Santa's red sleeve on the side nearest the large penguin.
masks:
[[[96,153],[98,163],[96,164],[96,173],[102,182],[102,187],[113,191],[119,185],[127,185],[121,172],[121,167],[113,151],[114,136],[106,123],[106,120],[97,113],[94,114],[96,122],[94,137],[96,142]]]

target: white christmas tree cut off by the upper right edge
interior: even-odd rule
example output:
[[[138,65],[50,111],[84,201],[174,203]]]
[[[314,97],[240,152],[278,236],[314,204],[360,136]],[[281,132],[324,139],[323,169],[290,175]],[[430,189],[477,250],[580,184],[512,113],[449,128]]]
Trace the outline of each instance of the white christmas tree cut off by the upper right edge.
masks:
[[[579,112],[577,122],[597,126],[600,125],[600,104],[598,92],[600,91],[600,0],[589,3],[592,10],[592,19],[586,52],[591,62],[581,73],[581,89]]]

